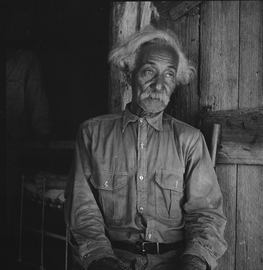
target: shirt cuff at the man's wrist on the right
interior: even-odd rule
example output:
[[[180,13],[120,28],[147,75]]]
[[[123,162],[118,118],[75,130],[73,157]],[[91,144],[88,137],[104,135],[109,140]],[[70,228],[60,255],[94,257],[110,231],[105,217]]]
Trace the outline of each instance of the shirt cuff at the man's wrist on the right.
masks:
[[[199,257],[201,260],[206,261],[209,265],[209,270],[214,269],[217,266],[217,263],[211,253],[201,244],[198,243],[187,243],[184,253],[181,255],[181,258],[186,255],[194,255]]]

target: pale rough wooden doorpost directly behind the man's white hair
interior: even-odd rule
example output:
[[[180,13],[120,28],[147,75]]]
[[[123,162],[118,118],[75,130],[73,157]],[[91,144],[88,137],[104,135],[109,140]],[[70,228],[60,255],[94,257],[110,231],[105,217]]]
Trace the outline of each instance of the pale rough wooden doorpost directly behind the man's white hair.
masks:
[[[152,16],[158,17],[158,13],[151,1],[113,2],[109,33],[110,49],[123,45],[125,38],[149,25]],[[131,101],[131,86],[117,67],[111,67],[109,78],[109,112],[115,113],[123,110]]]

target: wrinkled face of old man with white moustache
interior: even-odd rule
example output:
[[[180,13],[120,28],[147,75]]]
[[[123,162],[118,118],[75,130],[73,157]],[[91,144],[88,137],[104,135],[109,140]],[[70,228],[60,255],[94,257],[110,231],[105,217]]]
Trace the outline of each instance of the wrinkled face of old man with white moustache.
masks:
[[[164,110],[176,85],[178,55],[170,46],[144,45],[132,72],[132,103],[147,112]]]

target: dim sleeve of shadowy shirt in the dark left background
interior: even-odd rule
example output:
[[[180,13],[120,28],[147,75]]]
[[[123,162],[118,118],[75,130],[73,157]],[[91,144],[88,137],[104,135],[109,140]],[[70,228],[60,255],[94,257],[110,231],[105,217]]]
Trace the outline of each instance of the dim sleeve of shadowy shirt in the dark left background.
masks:
[[[27,52],[28,67],[25,75],[25,105],[28,109],[31,125],[37,135],[50,133],[48,99],[43,87],[40,61],[35,53]]]

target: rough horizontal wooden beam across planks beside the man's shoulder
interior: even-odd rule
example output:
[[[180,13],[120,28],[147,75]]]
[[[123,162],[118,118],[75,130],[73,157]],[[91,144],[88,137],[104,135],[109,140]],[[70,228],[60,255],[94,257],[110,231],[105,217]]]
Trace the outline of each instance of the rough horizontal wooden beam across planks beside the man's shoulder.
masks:
[[[217,162],[263,164],[263,108],[208,112],[200,126],[208,141],[214,123],[221,125]]]

